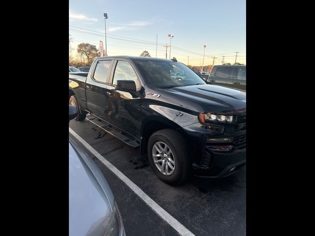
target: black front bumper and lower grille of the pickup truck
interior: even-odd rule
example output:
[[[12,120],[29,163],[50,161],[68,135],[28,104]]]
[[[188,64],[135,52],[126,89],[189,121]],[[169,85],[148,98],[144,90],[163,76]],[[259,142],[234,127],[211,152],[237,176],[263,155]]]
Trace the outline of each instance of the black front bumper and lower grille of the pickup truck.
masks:
[[[190,161],[199,177],[226,177],[242,169],[246,163],[246,115],[230,125],[195,123],[183,127],[192,149]],[[228,143],[214,143],[210,137],[232,138]]]

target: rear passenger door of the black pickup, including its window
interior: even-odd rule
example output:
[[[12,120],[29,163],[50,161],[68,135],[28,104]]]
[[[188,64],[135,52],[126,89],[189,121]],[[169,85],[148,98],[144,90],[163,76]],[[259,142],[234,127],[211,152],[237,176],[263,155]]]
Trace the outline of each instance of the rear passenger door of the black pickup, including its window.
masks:
[[[87,108],[95,116],[106,118],[106,86],[109,81],[113,59],[103,59],[95,62],[91,76],[86,82]]]

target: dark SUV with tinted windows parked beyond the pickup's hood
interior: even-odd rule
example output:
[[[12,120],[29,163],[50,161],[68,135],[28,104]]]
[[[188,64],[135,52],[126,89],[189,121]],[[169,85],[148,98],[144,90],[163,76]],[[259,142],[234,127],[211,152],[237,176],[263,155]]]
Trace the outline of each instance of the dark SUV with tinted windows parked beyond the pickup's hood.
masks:
[[[215,65],[206,83],[246,91],[246,65]]]

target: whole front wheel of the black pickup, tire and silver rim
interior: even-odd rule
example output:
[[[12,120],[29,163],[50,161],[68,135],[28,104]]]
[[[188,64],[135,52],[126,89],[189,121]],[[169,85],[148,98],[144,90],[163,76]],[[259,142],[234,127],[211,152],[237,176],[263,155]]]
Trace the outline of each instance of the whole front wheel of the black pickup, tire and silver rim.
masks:
[[[148,157],[156,175],[178,185],[189,177],[189,151],[184,137],[174,129],[153,133],[148,142]]]

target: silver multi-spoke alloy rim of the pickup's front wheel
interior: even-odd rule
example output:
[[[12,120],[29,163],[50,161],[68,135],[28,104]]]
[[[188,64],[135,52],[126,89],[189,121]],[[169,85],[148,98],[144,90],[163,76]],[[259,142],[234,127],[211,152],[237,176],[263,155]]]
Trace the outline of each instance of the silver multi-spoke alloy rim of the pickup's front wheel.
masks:
[[[160,173],[165,176],[170,176],[174,173],[175,158],[171,148],[165,143],[157,142],[153,145],[152,157]]]

